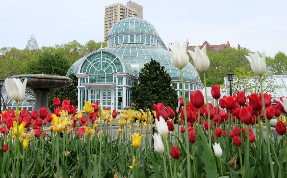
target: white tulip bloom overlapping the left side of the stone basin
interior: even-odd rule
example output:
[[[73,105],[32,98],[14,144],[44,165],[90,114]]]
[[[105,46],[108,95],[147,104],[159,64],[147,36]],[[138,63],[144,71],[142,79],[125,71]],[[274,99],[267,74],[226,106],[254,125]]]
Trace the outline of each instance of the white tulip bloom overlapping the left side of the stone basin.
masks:
[[[20,79],[5,79],[5,88],[8,95],[15,101],[20,101],[25,96],[27,78],[22,83]]]

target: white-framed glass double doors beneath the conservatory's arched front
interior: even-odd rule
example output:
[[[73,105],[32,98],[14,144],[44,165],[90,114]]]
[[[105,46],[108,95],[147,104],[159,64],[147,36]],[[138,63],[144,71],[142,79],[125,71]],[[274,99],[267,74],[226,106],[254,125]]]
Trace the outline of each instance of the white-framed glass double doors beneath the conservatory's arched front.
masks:
[[[90,88],[90,101],[91,103],[97,102],[104,109],[114,109],[114,88],[97,87]]]

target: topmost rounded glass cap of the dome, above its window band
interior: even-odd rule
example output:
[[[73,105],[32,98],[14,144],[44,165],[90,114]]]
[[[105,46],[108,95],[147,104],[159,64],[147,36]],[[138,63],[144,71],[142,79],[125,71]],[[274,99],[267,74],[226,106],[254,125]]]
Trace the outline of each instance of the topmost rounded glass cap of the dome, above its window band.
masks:
[[[116,22],[110,29],[109,35],[124,32],[140,32],[158,36],[155,27],[150,22],[137,17],[125,18]]]

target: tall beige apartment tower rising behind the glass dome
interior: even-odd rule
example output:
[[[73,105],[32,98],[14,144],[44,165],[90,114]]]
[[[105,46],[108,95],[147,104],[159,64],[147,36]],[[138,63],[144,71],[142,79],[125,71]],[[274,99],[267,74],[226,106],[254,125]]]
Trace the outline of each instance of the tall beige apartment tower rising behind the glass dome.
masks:
[[[109,6],[105,6],[105,37],[109,34],[110,28],[119,20],[128,18],[131,16],[143,18],[143,6],[135,2],[127,2],[127,5],[122,3],[116,3]]]

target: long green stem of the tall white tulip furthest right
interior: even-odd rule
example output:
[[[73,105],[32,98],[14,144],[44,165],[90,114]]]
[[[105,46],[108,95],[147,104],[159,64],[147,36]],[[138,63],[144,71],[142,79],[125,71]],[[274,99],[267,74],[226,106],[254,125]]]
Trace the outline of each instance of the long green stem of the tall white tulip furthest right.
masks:
[[[269,132],[270,120],[268,120],[267,117],[266,117],[266,108],[265,108],[265,103],[264,103],[262,76],[261,75],[260,75],[260,86],[261,86],[261,98],[262,98],[262,104],[263,104],[264,119],[265,119],[265,123],[266,123],[266,132],[267,132],[267,151],[268,151],[268,155],[269,155],[269,163],[270,163],[270,168],[271,168],[271,175],[272,175],[272,178],[274,178],[275,176],[274,176],[272,157],[271,157],[271,151],[270,151],[270,132]]]

